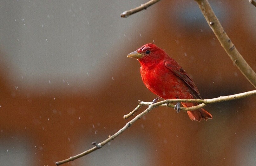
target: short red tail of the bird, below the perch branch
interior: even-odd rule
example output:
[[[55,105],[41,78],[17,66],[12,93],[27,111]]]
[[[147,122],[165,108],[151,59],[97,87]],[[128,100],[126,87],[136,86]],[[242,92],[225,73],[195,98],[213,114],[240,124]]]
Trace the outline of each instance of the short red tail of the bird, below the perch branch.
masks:
[[[198,105],[197,103],[183,103],[183,102],[181,102],[181,104],[183,105],[183,107],[186,107],[186,108]],[[187,114],[191,120],[196,120],[196,121],[201,121],[202,119],[204,120],[213,119],[213,116],[203,108],[199,108],[194,111],[187,111]]]

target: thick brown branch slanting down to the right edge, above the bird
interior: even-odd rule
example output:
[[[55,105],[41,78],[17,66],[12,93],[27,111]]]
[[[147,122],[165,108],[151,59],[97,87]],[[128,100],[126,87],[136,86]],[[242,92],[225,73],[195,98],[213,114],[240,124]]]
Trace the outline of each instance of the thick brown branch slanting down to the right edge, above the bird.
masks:
[[[247,64],[242,55],[238,52],[232,41],[227,36],[223,27],[221,26],[218,18],[213,12],[209,2],[207,0],[195,0],[201,9],[207,23],[213,30],[213,33],[220,41],[221,46],[224,48],[228,56],[235,63],[241,73],[247,78],[247,80],[256,88],[256,73]]]

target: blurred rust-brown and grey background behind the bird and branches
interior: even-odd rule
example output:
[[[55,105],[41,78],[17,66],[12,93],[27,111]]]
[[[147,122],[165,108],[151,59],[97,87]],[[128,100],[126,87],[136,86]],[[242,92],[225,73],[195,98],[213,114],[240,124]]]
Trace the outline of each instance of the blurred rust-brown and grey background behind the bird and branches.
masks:
[[[203,98],[253,86],[232,63],[193,0],[0,1],[0,165],[55,165],[123,127],[137,100],[156,96],[127,58],[155,43],[193,78]],[[210,0],[256,71],[256,9]],[[147,107],[141,108],[140,112]],[[65,165],[256,165],[256,97],[212,104],[212,120],[156,108],[102,149]],[[137,113],[138,114],[138,113]]]

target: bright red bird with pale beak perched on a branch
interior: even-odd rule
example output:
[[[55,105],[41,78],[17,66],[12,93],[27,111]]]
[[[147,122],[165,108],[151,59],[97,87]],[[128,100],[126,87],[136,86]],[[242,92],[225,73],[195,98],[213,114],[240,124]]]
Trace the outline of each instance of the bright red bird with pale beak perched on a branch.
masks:
[[[158,95],[158,99],[201,99],[200,93],[193,80],[181,66],[167,53],[154,44],[146,44],[127,57],[136,58],[141,64],[141,78],[146,87]],[[197,103],[183,103],[183,107],[198,105]],[[180,103],[175,105],[180,112]],[[212,119],[213,116],[203,108],[187,112],[191,120]]]

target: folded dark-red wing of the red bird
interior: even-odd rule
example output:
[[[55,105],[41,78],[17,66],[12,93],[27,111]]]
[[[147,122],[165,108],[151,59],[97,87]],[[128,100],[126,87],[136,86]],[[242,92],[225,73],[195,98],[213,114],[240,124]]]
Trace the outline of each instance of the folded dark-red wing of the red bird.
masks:
[[[193,94],[197,99],[202,99],[193,80],[187,75],[187,73],[181,68],[181,66],[175,60],[165,60],[164,64],[170,71],[172,71],[175,75],[177,75],[185,83],[187,83],[187,85],[193,91]]]

